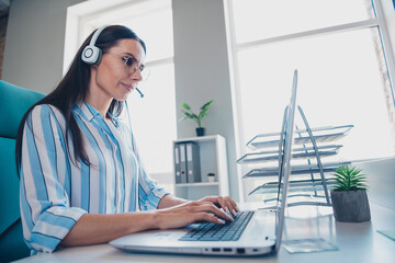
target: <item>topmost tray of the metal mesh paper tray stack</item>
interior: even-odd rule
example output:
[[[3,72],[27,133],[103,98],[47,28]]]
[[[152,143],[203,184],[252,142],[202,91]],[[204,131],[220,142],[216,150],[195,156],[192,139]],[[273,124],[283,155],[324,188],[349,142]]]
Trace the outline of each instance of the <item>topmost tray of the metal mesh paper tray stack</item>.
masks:
[[[319,128],[312,128],[313,138],[316,142],[331,142],[345,137],[353,125],[343,126],[327,126]],[[304,145],[312,142],[309,134],[306,129],[296,129],[294,136],[295,145]],[[270,147],[279,147],[280,133],[260,134],[255,136],[247,142],[250,149],[262,149]]]

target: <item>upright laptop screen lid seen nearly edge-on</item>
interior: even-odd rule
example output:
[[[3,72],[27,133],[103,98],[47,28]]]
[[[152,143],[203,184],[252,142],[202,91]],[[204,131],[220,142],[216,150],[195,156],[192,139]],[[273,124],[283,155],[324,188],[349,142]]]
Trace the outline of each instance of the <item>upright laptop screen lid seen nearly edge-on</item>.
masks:
[[[286,193],[289,178],[291,174],[291,157],[294,134],[294,116],[296,107],[297,70],[293,75],[292,92],[290,104],[285,107],[279,144],[279,193],[276,201],[275,222],[275,251],[280,249],[282,232],[284,228],[284,213],[286,207]]]

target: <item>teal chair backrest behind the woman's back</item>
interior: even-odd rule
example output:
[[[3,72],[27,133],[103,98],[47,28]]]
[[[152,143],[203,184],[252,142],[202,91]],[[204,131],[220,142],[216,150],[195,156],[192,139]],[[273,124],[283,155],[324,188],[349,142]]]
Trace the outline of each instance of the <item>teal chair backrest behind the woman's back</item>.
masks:
[[[44,94],[0,80],[0,262],[30,254],[23,241],[20,180],[15,164],[18,127],[26,111]]]

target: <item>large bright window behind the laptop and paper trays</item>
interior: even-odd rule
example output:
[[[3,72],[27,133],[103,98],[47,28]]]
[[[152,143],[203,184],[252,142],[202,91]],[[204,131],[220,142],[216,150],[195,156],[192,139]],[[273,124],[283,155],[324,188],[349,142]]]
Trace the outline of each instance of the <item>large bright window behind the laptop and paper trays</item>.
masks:
[[[385,28],[374,4],[229,1],[241,149],[256,134],[280,130],[297,69],[297,104],[312,127],[354,125],[339,142],[337,161],[394,156],[387,69],[394,57],[383,52]],[[302,121],[296,124],[304,127]]]

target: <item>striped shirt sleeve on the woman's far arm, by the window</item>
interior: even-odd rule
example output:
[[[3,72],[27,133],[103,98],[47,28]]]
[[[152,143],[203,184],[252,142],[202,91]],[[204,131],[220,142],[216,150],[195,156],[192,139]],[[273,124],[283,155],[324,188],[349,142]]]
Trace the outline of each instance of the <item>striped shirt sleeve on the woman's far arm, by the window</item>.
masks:
[[[169,194],[165,188],[158,186],[144,169],[138,156],[135,137],[132,133],[132,148],[138,162],[138,204],[142,210],[157,209],[161,198]]]

